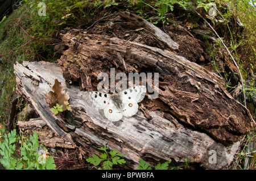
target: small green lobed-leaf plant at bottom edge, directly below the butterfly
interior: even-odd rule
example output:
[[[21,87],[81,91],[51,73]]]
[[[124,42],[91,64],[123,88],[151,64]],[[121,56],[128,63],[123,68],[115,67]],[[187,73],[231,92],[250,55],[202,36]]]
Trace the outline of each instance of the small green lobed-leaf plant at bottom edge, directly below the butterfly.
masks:
[[[106,151],[108,148],[98,148],[98,150],[104,151],[101,153],[100,157],[97,155],[93,155],[92,157],[86,159],[87,162],[93,163],[95,166],[99,165],[102,161],[103,170],[110,170],[113,165],[122,165],[122,163],[126,163],[125,159],[120,159],[123,157],[121,153],[117,153],[117,150],[113,149],[110,150],[109,153]]]

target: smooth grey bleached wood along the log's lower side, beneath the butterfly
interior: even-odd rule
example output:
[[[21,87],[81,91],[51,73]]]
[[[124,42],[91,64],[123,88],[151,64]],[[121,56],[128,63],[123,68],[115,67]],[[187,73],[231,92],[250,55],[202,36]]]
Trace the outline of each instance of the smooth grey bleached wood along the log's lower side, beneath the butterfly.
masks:
[[[184,161],[187,158],[188,161],[193,160],[208,169],[221,169],[229,165],[238,149],[239,142],[224,146],[205,133],[184,128],[183,125],[177,128],[170,120],[164,119],[164,114],[159,111],[150,111],[151,120],[147,120],[139,111],[133,117],[125,117],[119,124],[113,124],[104,119],[93,107],[86,105],[82,96],[84,91],[80,91],[79,87],[73,85],[70,88],[66,87],[65,79],[61,77],[62,71],[56,64],[24,62],[24,65],[26,67],[23,66],[23,68],[38,74],[40,82],[32,81],[34,78],[27,77],[23,73],[23,69],[19,69],[22,65],[16,63],[14,69],[17,91],[25,95],[35,108],[43,107],[43,109],[36,108],[36,111],[39,115],[44,115],[42,119],[46,121],[47,125],[53,125],[52,121],[58,127],[57,129],[60,129],[56,123],[56,120],[59,120],[67,128],[73,128],[65,134],[71,135],[72,140],[76,144],[84,146],[85,149],[93,149],[98,146],[117,149],[131,163],[138,163],[141,158],[151,161],[170,158],[175,161]],[[55,78],[67,89],[70,103],[73,105],[73,111],[67,114],[65,120],[48,111],[46,95],[51,90]],[[175,118],[170,117],[170,119]],[[59,132],[54,130],[56,127],[53,127],[55,133]],[[60,136],[63,137],[63,134]],[[64,139],[66,138],[64,137]],[[217,152],[216,164],[210,164],[208,161],[210,150]],[[89,153],[89,151],[86,152]],[[127,166],[136,167],[133,164]]]

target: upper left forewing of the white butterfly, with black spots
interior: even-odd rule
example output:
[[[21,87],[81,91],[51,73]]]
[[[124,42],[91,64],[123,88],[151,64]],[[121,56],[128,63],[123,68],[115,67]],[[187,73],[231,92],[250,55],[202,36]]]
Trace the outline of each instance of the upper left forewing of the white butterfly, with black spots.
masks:
[[[85,100],[90,106],[102,110],[109,103],[110,94],[98,91],[86,92]]]

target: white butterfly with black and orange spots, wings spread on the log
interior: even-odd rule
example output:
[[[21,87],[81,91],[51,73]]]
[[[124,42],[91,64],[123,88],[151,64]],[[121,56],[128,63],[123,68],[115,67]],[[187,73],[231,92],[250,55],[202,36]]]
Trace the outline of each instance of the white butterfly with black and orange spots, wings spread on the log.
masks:
[[[131,87],[114,94],[92,91],[85,93],[85,100],[90,106],[104,110],[110,121],[119,121],[123,116],[133,116],[138,112],[138,102],[144,99],[146,91],[145,86]]]

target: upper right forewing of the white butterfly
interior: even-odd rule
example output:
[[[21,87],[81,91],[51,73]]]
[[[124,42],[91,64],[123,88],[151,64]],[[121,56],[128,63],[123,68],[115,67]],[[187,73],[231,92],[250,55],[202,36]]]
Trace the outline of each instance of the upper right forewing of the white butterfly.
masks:
[[[139,103],[144,99],[147,89],[145,86],[134,86],[129,89],[123,90],[121,94],[122,100],[127,100],[133,103]]]

